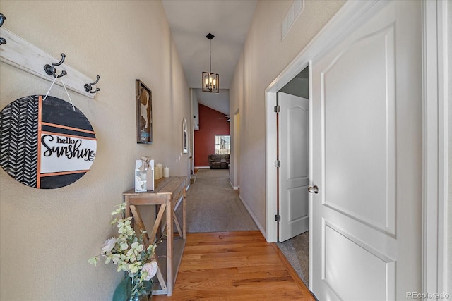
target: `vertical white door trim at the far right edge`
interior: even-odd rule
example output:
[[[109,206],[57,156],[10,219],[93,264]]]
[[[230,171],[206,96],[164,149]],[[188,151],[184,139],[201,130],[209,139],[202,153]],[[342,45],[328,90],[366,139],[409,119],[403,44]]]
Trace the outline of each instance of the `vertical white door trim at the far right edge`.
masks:
[[[422,292],[447,287],[448,51],[447,1],[423,1]]]

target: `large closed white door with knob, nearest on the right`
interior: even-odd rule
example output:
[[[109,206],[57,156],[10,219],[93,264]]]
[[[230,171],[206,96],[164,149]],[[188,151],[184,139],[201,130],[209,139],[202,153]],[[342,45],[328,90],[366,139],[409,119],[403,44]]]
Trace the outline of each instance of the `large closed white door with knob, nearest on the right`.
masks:
[[[311,61],[309,284],[322,301],[421,292],[422,3],[375,5]]]

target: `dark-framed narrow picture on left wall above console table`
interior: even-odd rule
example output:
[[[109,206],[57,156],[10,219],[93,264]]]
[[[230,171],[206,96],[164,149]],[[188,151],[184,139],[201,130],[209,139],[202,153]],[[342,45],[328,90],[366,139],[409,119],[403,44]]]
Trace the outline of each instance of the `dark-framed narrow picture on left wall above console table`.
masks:
[[[153,143],[153,94],[141,80],[136,80],[136,143]]]

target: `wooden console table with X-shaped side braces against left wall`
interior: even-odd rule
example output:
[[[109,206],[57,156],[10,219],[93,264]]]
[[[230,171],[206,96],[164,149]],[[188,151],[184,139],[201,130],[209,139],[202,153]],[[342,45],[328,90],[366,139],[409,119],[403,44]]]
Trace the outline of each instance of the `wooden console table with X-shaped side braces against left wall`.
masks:
[[[158,281],[154,281],[153,295],[172,295],[172,288],[176,282],[177,271],[182,259],[186,241],[186,185],[187,177],[169,177],[155,181],[154,191],[135,192],[131,189],[123,193],[126,202],[126,217],[133,216],[134,228],[147,231],[136,206],[157,206],[155,223],[152,231],[147,231],[145,247],[161,239],[155,249],[159,269],[157,271]],[[177,220],[175,210],[182,202],[182,228]],[[166,231],[162,233],[162,217],[166,210]],[[173,223],[177,228],[174,235]],[[163,237],[162,237],[162,234]],[[166,236],[166,237],[165,237]],[[166,259],[166,260],[165,260]]]

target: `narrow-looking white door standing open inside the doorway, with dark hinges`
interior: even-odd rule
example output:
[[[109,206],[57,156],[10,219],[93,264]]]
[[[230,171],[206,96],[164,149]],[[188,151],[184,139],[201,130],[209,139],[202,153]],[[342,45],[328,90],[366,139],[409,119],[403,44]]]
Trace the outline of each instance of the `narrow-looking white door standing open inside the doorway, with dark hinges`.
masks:
[[[309,100],[278,93],[279,214],[278,240],[309,230]]]

